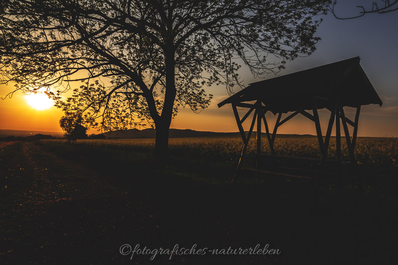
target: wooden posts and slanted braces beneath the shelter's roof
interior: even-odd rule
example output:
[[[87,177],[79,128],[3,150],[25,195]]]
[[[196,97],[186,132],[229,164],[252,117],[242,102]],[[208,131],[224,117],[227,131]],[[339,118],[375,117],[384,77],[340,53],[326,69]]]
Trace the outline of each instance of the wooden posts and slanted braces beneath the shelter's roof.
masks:
[[[238,125],[238,129],[240,132],[240,135],[242,137],[243,141],[243,148],[242,148],[242,153],[238,162],[238,166],[236,168],[236,173],[233,179],[236,177],[237,173],[241,170],[242,167],[242,162],[246,154],[247,146],[250,141],[250,137],[253,133],[254,125],[257,122],[257,140],[256,140],[256,165],[257,168],[259,167],[260,163],[260,156],[261,156],[261,128],[262,128],[262,122],[264,123],[265,127],[265,132],[267,135],[268,143],[270,146],[271,150],[271,155],[275,155],[275,150],[274,150],[274,141],[276,138],[276,134],[278,131],[278,128],[282,126],[284,123],[292,119],[298,114],[303,115],[304,117],[308,118],[312,122],[314,122],[315,125],[315,130],[316,130],[316,136],[318,139],[319,143],[319,150],[320,150],[320,159],[319,159],[319,167],[318,167],[318,174],[317,178],[315,180],[318,180],[322,170],[323,166],[326,163],[327,159],[327,151],[329,148],[329,143],[330,143],[330,138],[331,138],[331,133],[332,133],[332,128],[333,125],[336,124],[335,129],[336,129],[336,166],[337,166],[337,172],[339,175],[340,183],[341,183],[341,178],[342,178],[342,172],[341,172],[341,164],[342,164],[342,157],[341,157],[341,133],[340,133],[340,121],[343,126],[344,130],[344,136],[347,142],[347,147],[348,147],[348,152],[350,156],[350,163],[353,167],[355,167],[356,160],[355,160],[355,144],[356,144],[356,139],[357,139],[357,133],[358,133],[358,122],[359,122],[359,114],[361,110],[361,105],[356,106],[356,114],[355,114],[355,119],[354,121],[350,120],[348,117],[346,117],[345,112],[344,112],[344,107],[342,104],[342,100],[339,94],[336,95],[335,100],[333,102],[330,102],[329,107],[327,109],[330,111],[330,117],[329,117],[329,122],[325,134],[325,138],[323,139],[322,131],[321,131],[321,126],[320,126],[320,119],[318,115],[318,108],[316,106],[317,100],[322,100],[317,98],[316,96],[313,97],[313,108],[312,108],[312,114],[307,112],[306,110],[296,110],[292,111],[288,116],[286,116],[284,119],[282,119],[283,112],[276,112],[274,113],[277,115],[277,120],[275,123],[275,126],[273,128],[272,134],[270,133],[270,129],[268,126],[267,118],[266,118],[266,113],[268,112],[267,106],[265,105],[264,102],[261,100],[257,100],[254,104],[249,104],[249,103],[242,103],[242,102],[231,102],[232,105],[232,110],[235,116],[236,123]],[[330,100],[331,101],[331,100]],[[248,111],[246,114],[240,118],[238,109],[237,107],[243,107],[247,108]],[[250,114],[253,112],[254,114],[252,117],[252,122],[250,125],[250,129],[248,131],[248,134],[246,136],[246,133],[243,129],[243,122],[250,116]],[[350,136],[349,130],[348,130],[348,125],[352,126],[353,129],[353,134],[352,137]],[[265,171],[263,171],[265,172]],[[267,172],[266,172],[267,173]],[[273,175],[282,175],[282,176],[287,176],[287,177],[301,177],[301,178],[309,178],[309,179],[314,179],[313,177],[304,177],[304,176],[295,176],[295,175],[287,175],[287,174],[278,174],[278,173],[272,173]],[[232,181],[233,181],[232,179]],[[359,183],[358,183],[359,184]]]

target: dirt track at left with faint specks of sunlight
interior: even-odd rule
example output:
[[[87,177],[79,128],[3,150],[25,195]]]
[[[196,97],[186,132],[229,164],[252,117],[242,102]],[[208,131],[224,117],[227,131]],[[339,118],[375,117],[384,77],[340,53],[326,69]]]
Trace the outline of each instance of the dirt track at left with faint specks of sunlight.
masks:
[[[22,157],[14,166],[24,164],[29,179],[5,203],[8,207],[2,218],[6,240],[0,263],[55,264],[66,254],[63,248],[89,245],[82,242],[88,234],[95,240],[90,230],[97,214],[91,213],[105,206],[107,198],[118,199],[119,195],[89,169],[32,143],[23,143],[21,151]],[[100,235],[98,231],[94,234]],[[71,262],[80,261],[71,258]]]

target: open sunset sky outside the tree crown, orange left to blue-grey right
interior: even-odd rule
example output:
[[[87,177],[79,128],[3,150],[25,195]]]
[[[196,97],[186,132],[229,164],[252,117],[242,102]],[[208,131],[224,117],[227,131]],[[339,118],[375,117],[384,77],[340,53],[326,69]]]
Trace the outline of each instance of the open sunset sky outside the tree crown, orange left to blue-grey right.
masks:
[[[350,12],[356,14],[359,11],[355,8],[356,4],[352,1],[347,2],[338,6],[341,14],[348,15]],[[346,8],[347,6],[353,8]],[[281,75],[359,56],[362,68],[383,100],[383,106],[362,107],[358,135],[398,137],[397,25],[398,11],[382,15],[368,14],[350,20],[338,20],[329,14],[324,17],[317,30],[316,35],[322,40],[318,42],[316,51],[309,57],[288,62],[286,70],[282,71]],[[240,75],[246,85],[261,80],[254,79],[245,70]],[[273,77],[270,75],[265,78]],[[0,85],[2,96],[12,90],[12,84]],[[217,107],[218,102],[228,97],[225,88],[211,87],[206,88],[206,91],[214,95],[209,108],[199,114],[191,109],[181,108],[171,128],[216,132],[238,131],[230,105]],[[59,118],[62,116],[62,111],[53,106],[37,110],[37,106],[35,108],[29,105],[26,100],[28,97],[30,96],[18,91],[12,98],[0,100],[0,129],[60,132]],[[347,115],[352,117],[353,113],[349,110],[347,112]],[[321,119],[323,118],[323,134],[327,123],[324,114],[325,111],[320,111]],[[267,118],[272,123],[275,117],[267,115],[270,115]],[[312,122],[298,115],[284,124],[278,133],[315,134],[315,129]]]

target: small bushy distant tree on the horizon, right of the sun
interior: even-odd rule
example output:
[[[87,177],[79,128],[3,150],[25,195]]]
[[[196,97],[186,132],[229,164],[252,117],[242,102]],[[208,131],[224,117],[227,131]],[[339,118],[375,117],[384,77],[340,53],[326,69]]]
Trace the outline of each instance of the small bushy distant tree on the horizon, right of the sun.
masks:
[[[59,124],[68,142],[73,143],[77,139],[87,139],[87,128],[81,124],[81,120],[73,115],[61,117]]]

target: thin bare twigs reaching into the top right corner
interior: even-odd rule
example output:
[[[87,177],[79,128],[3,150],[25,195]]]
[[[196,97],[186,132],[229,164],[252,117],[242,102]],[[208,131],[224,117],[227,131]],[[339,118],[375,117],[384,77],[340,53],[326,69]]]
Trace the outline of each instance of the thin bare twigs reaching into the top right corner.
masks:
[[[378,14],[386,14],[392,11],[398,10],[398,0],[379,0],[372,1],[372,7],[365,7],[363,5],[357,5],[361,11],[359,11],[358,15],[342,17],[339,16],[335,11],[335,6],[337,5],[337,0],[334,0],[333,3],[329,5],[329,11],[334,15],[334,17],[338,19],[352,19],[364,16],[369,13],[378,13]]]

